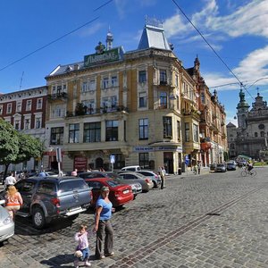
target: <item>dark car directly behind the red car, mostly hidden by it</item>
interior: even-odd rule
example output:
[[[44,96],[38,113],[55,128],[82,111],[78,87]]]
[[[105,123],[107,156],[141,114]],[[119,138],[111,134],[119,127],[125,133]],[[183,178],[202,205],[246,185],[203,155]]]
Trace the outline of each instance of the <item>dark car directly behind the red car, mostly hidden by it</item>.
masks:
[[[80,178],[83,179],[112,179],[120,182],[121,184],[129,184],[132,188],[132,193],[134,195],[134,199],[137,197],[139,193],[142,192],[141,184],[137,180],[124,180],[115,172],[82,172],[79,174]]]

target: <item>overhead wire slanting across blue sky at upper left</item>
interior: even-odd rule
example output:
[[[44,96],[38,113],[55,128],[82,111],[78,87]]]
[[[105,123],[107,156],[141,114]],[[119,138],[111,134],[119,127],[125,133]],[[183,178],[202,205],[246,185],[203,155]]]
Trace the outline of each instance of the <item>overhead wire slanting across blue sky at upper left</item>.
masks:
[[[98,6],[98,7],[94,10],[94,12],[96,12],[97,10],[103,8],[106,4],[110,4],[111,2],[113,2],[113,0],[109,0],[109,1],[105,2],[105,4],[102,4],[102,5]],[[74,33],[75,31],[77,31],[77,30],[79,30],[79,29],[81,29],[81,28],[87,26],[88,24],[91,24],[92,22],[98,20],[99,18],[100,18],[100,16],[97,16],[95,19],[93,19],[93,20],[91,20],[91,21],[88,21],[88,22],[84,23],[84,24],[81,25],[80,27],[78,27],[78,28],[76,28],[76,29],[72,29],[70,32],[64,34],[62,37],[60,37],[60,38],[56,38],[56,39],[54,39],[53,41],[47,43],[46,45],[41,46],[41,47],[39,47],[38,49],[34,50],[33,52],[31,52],[31,53],[29,53],[29,54],[26,54],[25,56],[21,57],[20,59],[18,59],[18,60],[16,60],[16,61],[13,61],[12,63],[9,63],[9,64],[5,65],[3,68],[0,69],[0,71],[3,71],[4,69],[6,69],[6,68],[12,66],[12,65],[15,64],[15,63],[19,63],[19,62],[21,62],[22,60],[28,58],[30,55],[37,53],[38,51],[40,51],[40,50],[46,48],[47,46],[50,46],[50,45],[56,43],[57,41],[59,41],[59,40],[61,40],[61,39],[63,39],[63,38],[66,38],[67,36],[71,35],[71,34]]]

